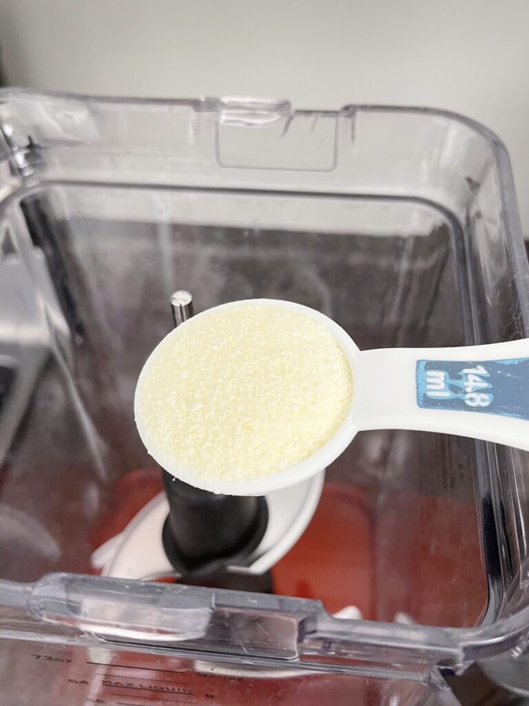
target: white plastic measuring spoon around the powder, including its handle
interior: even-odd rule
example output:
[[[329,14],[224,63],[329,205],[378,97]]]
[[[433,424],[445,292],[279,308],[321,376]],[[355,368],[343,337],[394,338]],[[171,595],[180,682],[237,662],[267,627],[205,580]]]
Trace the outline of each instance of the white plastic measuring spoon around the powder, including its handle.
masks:
[[[322,471],[358,431],[367,429],[437,431],[529,450],[529,339],[454,348],[360,351],[332,319],[291,301],[234,301],[204,314],[249,304],[285,306],[321,321],[351,366],[351,405],[339,429],[315,453],[296,465],[254,479],[190,479],[150,449],[151,455],[181,480],[215,493],[263,495]],[[182,328],[169,335],[178,335]],[[148,364],[149,360],[145,367]],[[138,415],[136,422],[145,441]]]

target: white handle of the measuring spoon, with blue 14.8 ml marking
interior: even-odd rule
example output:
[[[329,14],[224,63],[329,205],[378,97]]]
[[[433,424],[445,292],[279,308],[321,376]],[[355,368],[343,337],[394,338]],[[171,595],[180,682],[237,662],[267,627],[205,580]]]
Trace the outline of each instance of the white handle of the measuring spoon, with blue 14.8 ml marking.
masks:
[[[529,339],[362,351],[358,429],[439,431],[529,450]]]

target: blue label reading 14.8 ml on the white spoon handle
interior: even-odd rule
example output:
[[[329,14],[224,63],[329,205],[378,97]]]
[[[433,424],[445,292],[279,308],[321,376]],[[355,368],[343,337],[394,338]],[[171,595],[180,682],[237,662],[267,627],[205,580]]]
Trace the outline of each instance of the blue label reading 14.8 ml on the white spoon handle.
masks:
[[[529,358],[419,360],[415,376],[419,407],[529,419]]]

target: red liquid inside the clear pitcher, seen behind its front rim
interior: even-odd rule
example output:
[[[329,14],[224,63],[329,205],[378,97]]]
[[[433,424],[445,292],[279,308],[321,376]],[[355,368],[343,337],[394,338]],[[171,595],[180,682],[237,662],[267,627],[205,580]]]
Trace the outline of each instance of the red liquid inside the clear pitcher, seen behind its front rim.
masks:
[[[94,546],[121,532],[161,491],[156,468],[137,469],[121,478],[114,487],[116,509],[99,527]],[[401,613],[420,623],[479,623],[487,587],[479,580],[482,556],[473,503],[395,491],[391,508],[396,516],[392,526],[399,525],[397,515],[409,518],[412,512],[413,522],[401,520],[398,534],[394,530],[391,537],[382,537],[378,530],[380,536],[375,537],[365,493],[354,486],[325,484],[307,529],[272,568],[274,593],[318,599],[331,614],[355,606],[368,620],[394,621]],[[461,527],[468,527],[464,544],[458,536]],[[415,537],[418,530],[420,537]],[[391,576],[388,556],[385,566],[377,567],[378,547],[388,540],[395,567]],[[379,558],[379,563],[384,560]],[[200,585],[208,585],[207,580]]]

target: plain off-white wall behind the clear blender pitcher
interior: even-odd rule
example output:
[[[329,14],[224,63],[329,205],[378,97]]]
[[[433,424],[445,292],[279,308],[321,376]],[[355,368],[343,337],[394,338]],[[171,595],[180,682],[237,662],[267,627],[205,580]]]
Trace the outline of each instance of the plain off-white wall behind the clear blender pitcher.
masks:
[[[426,105],[509,149],[529,234],[529,0],[0,0],[13,85]]]

